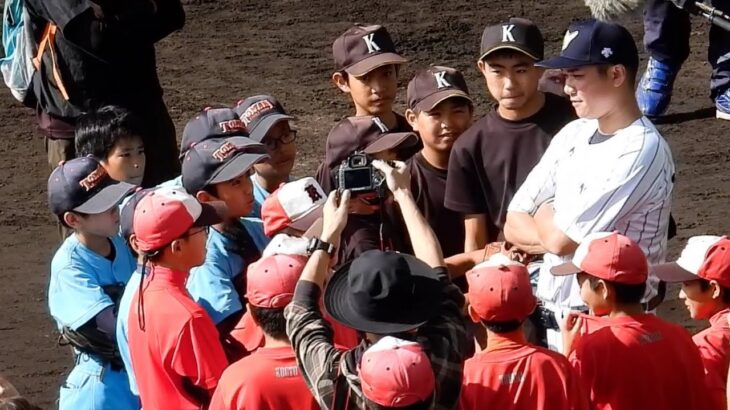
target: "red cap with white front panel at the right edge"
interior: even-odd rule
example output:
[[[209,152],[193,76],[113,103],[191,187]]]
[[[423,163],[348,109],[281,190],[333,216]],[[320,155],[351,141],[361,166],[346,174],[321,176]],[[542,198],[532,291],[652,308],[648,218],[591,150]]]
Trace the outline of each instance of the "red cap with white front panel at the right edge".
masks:
[[[689,238],[676,262],[652,266],[651,272],[666,282],[705,279],[730,288],[730,239],[713,235]]]

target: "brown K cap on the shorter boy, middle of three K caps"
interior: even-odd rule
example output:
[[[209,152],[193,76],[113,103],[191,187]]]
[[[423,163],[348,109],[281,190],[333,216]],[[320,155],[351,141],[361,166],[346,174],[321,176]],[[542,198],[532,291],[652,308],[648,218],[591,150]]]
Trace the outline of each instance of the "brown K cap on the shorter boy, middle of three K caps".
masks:
[[[459,97],[471,101],[466,80],[459,70],[432,66],[416,73],[408,83],[408,108],[431,111],[440,102]]]

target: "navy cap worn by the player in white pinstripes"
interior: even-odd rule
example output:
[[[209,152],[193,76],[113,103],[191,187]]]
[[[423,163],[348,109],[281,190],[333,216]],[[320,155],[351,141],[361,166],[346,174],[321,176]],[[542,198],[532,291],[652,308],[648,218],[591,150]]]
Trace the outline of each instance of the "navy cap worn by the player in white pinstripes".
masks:
[[[625,27],[591,19],[571,24],[565,33],[560,56],[540,61],[536,65],[575,68],[603,64],[636,68],[639,66],[639,51]]]

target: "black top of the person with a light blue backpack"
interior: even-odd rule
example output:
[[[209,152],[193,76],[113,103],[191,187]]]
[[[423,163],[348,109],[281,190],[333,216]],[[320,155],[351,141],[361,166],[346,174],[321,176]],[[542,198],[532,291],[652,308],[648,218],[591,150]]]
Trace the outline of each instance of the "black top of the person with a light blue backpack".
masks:
[[[74,118],[116,104],[144,113],[161,101],[154,44],[184,24],[180,0],[104,2],[103,9],[97,3],[26,0],[37,41],[47,22],[58,27],[54,52],[46,48],[33,81],[44,112]],[[57,91],[54,58],[68,101]]]

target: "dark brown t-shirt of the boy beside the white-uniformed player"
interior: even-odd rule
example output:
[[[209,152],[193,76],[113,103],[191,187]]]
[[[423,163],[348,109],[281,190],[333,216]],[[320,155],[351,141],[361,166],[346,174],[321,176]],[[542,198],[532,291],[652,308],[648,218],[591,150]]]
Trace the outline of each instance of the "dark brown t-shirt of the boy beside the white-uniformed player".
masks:
[[[444,205],[464,215],[486,214],[489,240],[496,240],[515,192],[552,137],[575,118],[570,101],[550,93],[540,111],[521,121],[489,112],[454,144]]]

